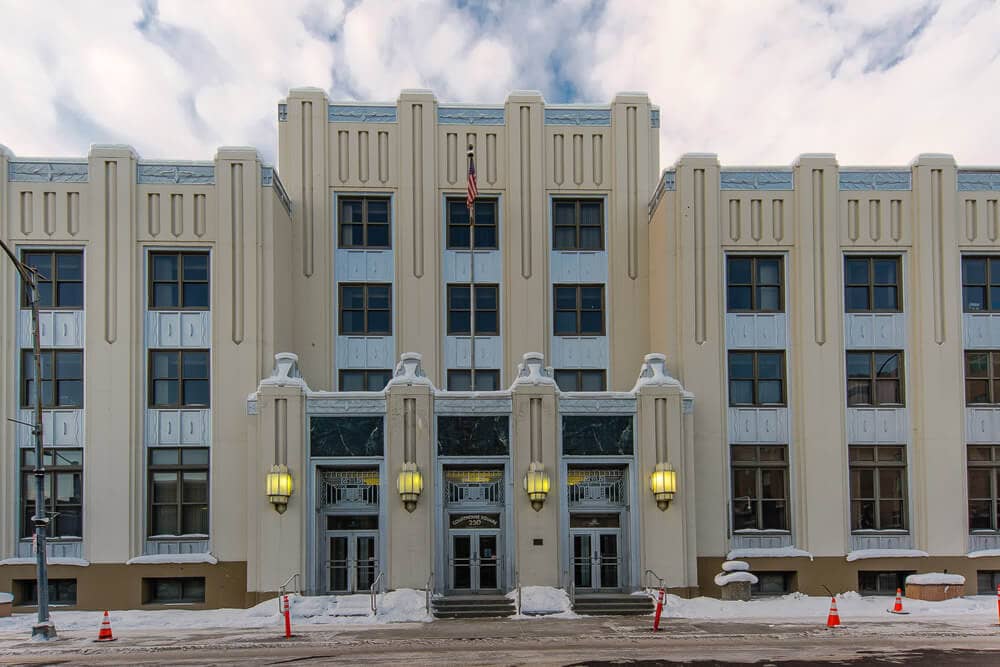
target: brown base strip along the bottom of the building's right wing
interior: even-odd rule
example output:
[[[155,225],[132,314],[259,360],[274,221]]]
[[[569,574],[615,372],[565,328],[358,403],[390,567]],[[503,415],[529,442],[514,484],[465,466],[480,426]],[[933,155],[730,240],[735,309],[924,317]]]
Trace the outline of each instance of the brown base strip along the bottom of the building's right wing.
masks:
[[[722,589],[715,585],[715,575],[722,571],[725,558],[698,558],[698,584],[702,593],[720,597]],[[948,572],[965,577],[966,595],[976,594],[976,573],[979,570],[1000,570],[1000,557],[967,558],[965,556],[926,556],[919,558],[867,558],[848,562],[843,556],[809,558],[743,558],[750,571],[793,572],[790,592],[806,595],[826,595],[858,590],[858,572],[912,571]]]

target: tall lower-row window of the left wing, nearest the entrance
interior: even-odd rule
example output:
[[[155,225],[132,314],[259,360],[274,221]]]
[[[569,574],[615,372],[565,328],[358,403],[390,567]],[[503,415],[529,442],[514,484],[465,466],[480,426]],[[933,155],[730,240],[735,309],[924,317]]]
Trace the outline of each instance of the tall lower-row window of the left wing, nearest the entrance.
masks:
[[[208,449],[150,447],[149,536],[208,535]]]

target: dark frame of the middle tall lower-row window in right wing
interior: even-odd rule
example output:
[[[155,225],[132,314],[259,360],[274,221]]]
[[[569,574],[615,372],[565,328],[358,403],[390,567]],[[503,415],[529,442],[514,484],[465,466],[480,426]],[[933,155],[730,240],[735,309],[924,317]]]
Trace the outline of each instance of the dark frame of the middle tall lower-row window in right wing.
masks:
[[[892,461],[888,459],[882,459],[880,452],[888,450],[899,450],[902,452],[901,461]],[[848,450],[848,494],[850,501],[850,521],[851,521],[851,533],[852,534],[870,534],[870,533],[892,533],[892,534],[907,534],[910,532],[910,512],[909,512],[909,480],[908,466],[906,456],[906,446],[905,445],[850,445]],[[855,455],[862,450],[872,450],[872,460],[859,460]],[[872,485],[872,496],[861,496],[860,489],[856,486],[861,485],[860,474],[864,472],[871,472],[871,485]],[[894,471],[899,475],[901,481],[901,491],[898,498],[887,496],[882,492],[882,474],[885,471]],[[859,483],[855,485],[855,472],[859,473]],[[872,521],[874,522],[873,528],[863,528],[857,521],[858,516],[861,513],[861,508],[864,503],[871,503],[873,515]],[[899,503],[902,527],[883,527],[884,517],[883,517],[883,507],[884,503]]]

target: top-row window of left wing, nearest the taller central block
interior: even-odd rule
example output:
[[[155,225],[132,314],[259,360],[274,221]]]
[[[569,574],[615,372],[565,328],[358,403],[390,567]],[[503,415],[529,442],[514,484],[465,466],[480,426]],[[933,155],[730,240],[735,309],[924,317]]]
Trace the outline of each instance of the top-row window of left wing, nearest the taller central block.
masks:
[[[150,310],[207,310],[207,252],[149,253]]]

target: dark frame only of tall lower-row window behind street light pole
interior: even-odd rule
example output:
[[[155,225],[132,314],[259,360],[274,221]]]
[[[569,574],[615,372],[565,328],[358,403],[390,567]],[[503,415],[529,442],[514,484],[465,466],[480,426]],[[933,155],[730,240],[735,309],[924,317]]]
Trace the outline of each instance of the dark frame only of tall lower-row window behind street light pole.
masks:
[[[73,463],[60,463],[60,454],[63,456],[65,461],[65,456],[69,452],[74,452],[77,454],[75,458],[79,459],[79,463],[75,461]],[[29,495],[34,495],[35,493],[35,450],[34,449],[22,449],[20,451],[20,470],[21,470],[21,489],[20,489],[20,510],[21,510],[21,539],[29,539],[35,534],[35,526],[31,521],[31,517],[35,514],[34,500],[29,501]],[[45,514],[49,516],[49,527],[46,531],[48,539],[70,539],[77,540],[83,539],[83,466],[84,466],[84,453],[81,447],[46,447],[42,450],[42,467],[45,468],[45,489],[49,495],[49,498],[45,502]],[[77,496],[73,501],[61,501],[59,500],[59,494],[57,491],[60,488],[58,479],[62,476],[68,475],[72,480],[73,487],[75,490],[79,490],[79,496]],[[28,509],[29,502],[31,504],[31,509]],[[79,517],[78,522],[80,525],[79,535],[64,535],[63,523],[65,518],[73,516],[73,513]],[[60,519],[64,517],[64,519]]]

